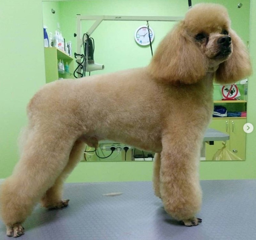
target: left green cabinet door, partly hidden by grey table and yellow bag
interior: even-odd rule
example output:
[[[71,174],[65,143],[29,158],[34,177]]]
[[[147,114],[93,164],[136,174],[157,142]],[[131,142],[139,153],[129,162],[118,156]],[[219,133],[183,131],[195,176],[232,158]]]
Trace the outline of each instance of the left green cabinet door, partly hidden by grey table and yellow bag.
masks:
[[[216,129],[223,133],[229,134],[229,119],[212,119],[209,128]],[[230,138],[229,138],[230,139]],[[227,148],[230,149],[230,140],[226,141]],[[214,145],[205,144],[205,160],[212,161],[213,155],[223,147],[222,141],[215,141]]]

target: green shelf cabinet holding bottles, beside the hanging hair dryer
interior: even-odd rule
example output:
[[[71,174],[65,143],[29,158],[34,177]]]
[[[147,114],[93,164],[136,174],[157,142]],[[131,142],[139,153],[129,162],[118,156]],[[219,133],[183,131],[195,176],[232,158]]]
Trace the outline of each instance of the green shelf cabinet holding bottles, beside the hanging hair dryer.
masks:
[[[60,73],[58,62],[63,60],[64,65],[68,63],[69,72]],[[46,83],[58,80],[59,78],[74,78],[74,59],[57,48],[44,48],[45,78]]]

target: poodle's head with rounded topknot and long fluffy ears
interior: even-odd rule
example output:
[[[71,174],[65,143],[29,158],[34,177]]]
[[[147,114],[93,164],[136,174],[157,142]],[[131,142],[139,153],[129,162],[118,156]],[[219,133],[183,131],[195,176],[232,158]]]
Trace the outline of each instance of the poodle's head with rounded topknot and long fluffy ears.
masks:
[[[173,84],[193,84],[207,72],[220,83],[233,83],[251,74],[243,41],[230,27],[227,10],[218,4],[197,4],[159,44],[149,69]]]

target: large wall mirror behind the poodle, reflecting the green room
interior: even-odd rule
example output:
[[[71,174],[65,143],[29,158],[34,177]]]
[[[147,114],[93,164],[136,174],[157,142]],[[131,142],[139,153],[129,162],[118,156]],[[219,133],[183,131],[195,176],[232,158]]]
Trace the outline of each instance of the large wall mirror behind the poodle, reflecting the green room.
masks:
[[[48,35],[48,44],[52,39],[53,47],[45,47],[46,83],[57,79],[75,78],[77,67],[74,53],[77,52],[77,41],[74,34],[77,32],[76,15],[121,15],[121,16],[184,16],[187,11],[187,2],[180,7],[180,1],[169,3],[170,6],[158,6],[156,3],[148,5],[143,1],[137,4],[138,8],[130,6],[127,1],[116,1],[111,8],[104,1],[42,1],[43,24]],[[157,1],[156,1],[157,2]],[[173,1],[172,1],[173,2]],[[194,1],[199,3],[201,1]],[[221,1],[212,1],[223,4]],[[147,8],[143,7],[147,5]],[[161,5],[161,4],[160,4]],[[250,2],[246,1],[238,8],[237,4],[227,1],[226,5],[232,21],[232,28],[241,36],[243,41],[249,41],[249,13]],[[95,21],[87,20],[81,23],[81,33],[86,33]],[[172,29],[176,22],[150,21],[155,39],[152,43],[153,51],[161,39]],[[134,32],[138,27],[146,25],[146,21],[103,21],[91,35],[94,39],[94,61],[104,65],[104,69],[91,71],[91,75],[104,74],[118,70],[142,67],[148,65],[151,59],[149,46],[142,46],[134,40]],[[54,47],[54,36],[62,35],[65,42],[64,50]],[[50,43],[51,44],[51,43]],[[68,52],[69,51],[69,52]],[[70,54],[71,52],[71,54]],[[131,56],[134,56],[131,58]],[[61,66],[61,69],[60,69]],[[85,72],[89,76],[89,72]],[[241,79],[243,80],[243,79]],[[207,141],[203,143],[202,161],[243,161],[245,160],[246,133],[243,126],[246,123],[247,81],[239,81],[236,85],[214,85],[215,117],[209,128],[221,131],[229,136],[229,140]],[[249,84],[250,86],[250,84]],[[222,93],[236,94],[236,100],[223,101]],[[86,93],[85,93],[86,94]],[[218,116],[219,114],[219,116]],[[112,149],[115,148],[111,154]],[[100,141],[99,148],[86,147],[82,161],[153,161],[154,153],[135,149],[132,146],[110,140]],[[225,155],[225,154],[229,155]],[[230,154],[231,153],[231,154]],[[216,155],[217,154],[217,155]],[[221,155],[222,154],[222,155]]]

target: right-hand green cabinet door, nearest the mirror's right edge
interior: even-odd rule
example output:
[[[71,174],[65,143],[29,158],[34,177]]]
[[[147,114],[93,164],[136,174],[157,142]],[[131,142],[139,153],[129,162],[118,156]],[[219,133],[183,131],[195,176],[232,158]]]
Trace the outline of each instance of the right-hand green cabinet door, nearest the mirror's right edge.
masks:
[[[246,119],[230,119],[230,151],[245,160],[246,133],[243,126]]]

